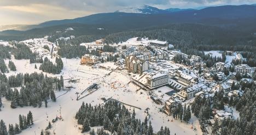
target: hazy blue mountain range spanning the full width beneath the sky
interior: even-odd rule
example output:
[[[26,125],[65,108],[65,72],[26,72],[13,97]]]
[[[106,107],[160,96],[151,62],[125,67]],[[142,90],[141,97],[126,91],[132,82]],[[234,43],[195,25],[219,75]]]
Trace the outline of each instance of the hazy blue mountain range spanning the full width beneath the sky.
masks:
[[[138,8],[121,9],[114,13],[100,13],[75,19],[47,21],[39,25],[6,26],[2,27],[2,29],[0,27],[0,30],[19,30],[2,31],[0,36],[5,36],[5,38],[11,36],[17,39],[21,39],[20,37],[33,38],[35,36],[54,34],[56,31],[63,31],[68,27],[74,28],[71,33],[79,36],[85,33],[92,33],[97,28],[104,28],[103,31],[97,31],[99,34],[102,32],[107,34],[169,24],[200,24],[255,33],[255,14],[255,4],[223,5],[200,10],[177,8],[164,10],[143,5]]]

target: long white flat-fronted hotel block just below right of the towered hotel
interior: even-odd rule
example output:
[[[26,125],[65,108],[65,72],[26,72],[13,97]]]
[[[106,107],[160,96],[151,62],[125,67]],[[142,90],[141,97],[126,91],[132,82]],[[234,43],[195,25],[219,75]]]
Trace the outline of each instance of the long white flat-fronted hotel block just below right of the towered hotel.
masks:
[[[155,88],[168,84],[169,77],[166,73],[149,73],[146,77],[147,86],[150,88]]]

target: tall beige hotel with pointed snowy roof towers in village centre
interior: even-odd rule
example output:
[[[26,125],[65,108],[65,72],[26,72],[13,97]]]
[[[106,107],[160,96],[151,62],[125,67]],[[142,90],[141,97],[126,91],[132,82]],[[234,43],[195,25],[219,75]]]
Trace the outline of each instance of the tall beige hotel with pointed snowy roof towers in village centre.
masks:
[[[149,63],[131,55],[125,58],[125,67],[128,72],[142,74],[144,71],[148,71]]]

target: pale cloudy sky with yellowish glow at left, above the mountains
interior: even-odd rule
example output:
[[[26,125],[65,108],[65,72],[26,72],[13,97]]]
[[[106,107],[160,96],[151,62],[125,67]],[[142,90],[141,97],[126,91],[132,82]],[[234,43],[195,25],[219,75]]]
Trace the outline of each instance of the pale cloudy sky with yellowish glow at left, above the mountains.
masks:
[[[143,4],[166,9],[253,3],[256,0],[0,0],[0,25],[38,24]]]

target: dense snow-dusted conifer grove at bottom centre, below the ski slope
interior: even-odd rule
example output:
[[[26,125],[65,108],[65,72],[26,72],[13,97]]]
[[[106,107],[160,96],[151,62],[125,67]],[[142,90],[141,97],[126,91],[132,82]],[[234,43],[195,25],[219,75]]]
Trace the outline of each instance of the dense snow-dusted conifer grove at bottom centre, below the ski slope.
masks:
[[[103,106],[96,105],[92,107],[91,104],[83,104],[77,111],[75,119],[78,124],[83,125],[82,132],[91,131],[91,127],[103,126],[103,130],[109,131],[112,134],[149,134],[153,135],[153,127],[151,121],[147,116],[144,121],[135,118],[135,111],[131,114],[124,105],[118,102],[108,101]],[[98,132],[103,132],[100,130]],[[90,133],[92,133],[91,131]],[[170,129],[161,127],[157,133],[161,135],[169,135]]]

